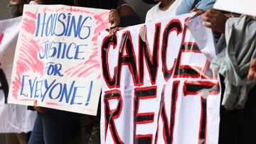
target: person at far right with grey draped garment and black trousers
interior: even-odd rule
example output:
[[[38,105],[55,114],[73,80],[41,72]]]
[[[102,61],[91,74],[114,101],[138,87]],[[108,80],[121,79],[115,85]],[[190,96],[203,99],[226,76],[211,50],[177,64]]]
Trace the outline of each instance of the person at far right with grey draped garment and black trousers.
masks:
[[[234,1],[238,3],[238,1]],[[238,4],[240,6],[240,4]],[[223,99],[225,103],[220,109],[220,134],[219,143],[256,143],[256,87],[253,82],[247,85],[230,87],[228,81],[234,79],[255,80],[255,45],[256,45],[256,20],[252,16],[239,16],[232,13],[209,9],[203,16],[204,25],[213,31],[223,33],[218,42],[219,54],[213,59],[213,66],[219,65],[225,69],[225,84],[222,84]],[[225,58],[228,57],[228,58]],[[229,74],[230,66],[233,74]],[[250,62],[252,60],[252,62]],[[225,64],[223,63],[225,62]],[[212,67],[212,64],[211,64]],[[238,73],[237,73],[238,72]],[[235,75],[238,74],[238,76]],[[232,77],[228,79],[227,74]],[[254,86],[253,86],[254,85]],[[250,86],[241,92],[241,87]],[[252,86],[252,87],[251,87]],[[228,89],[228,90],[227,90]],[[237,92],[239,91],[239,92]],[[231,94],[228,94],[230,92]],[[238,95],[238,96],[236,96]],[[230,97],[230,98],[228,98]],[[235,99],[235,104],[229,99]],[[227,108],[230,109],[227,111]]]

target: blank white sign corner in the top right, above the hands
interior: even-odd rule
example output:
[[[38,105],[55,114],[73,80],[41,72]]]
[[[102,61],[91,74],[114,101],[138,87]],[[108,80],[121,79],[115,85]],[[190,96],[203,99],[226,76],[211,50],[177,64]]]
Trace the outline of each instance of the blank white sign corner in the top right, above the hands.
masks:
[[[255,0],[217,0],[214,9],[256,16]]]

